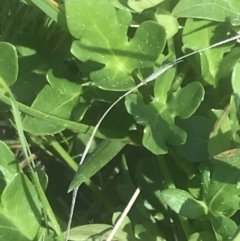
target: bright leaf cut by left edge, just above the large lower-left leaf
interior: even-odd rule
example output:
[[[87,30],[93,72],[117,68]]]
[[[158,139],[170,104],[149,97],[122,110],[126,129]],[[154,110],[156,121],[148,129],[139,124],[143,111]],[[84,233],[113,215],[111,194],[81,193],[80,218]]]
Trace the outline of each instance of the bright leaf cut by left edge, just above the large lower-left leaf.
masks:
[[[13,179],[15,174],[19,172],[19,167],[16,157],[11,152],[9,147],[0,141],[0,193],[9,182]]]

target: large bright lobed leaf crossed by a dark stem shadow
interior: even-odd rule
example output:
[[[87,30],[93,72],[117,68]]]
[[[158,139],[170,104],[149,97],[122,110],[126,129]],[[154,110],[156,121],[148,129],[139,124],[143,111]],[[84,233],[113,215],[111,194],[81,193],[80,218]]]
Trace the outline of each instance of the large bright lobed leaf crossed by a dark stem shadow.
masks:
[[[81,61],[104,65],[90,78],[106,90],[125,91],[134,86],[132,71],[151,67],[165,45],[166,34],[156,22],[146,21],[129,40],[131,13],[107,0],[66,0],[67,23],[77,39],[71,51]]]

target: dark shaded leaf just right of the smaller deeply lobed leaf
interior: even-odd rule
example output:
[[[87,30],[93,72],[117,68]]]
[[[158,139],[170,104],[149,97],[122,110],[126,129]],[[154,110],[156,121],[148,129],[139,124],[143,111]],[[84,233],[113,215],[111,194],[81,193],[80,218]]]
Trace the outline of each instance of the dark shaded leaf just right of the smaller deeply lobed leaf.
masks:
[[[177,146],[175,151],[190,162],[207,160],[207,143],[212,130],[210,121],[201,116],[191,116],[186,120],[178,120],[177,125],[187,132],[187,140],[185,144]]]

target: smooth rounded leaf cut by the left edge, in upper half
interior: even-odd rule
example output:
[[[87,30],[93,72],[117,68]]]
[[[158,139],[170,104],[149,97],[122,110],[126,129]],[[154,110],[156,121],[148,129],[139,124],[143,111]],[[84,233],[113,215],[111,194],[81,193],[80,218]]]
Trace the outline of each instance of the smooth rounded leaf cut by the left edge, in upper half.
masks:
[[[0,43],[0,77],[8,86],[17,80],[18,58],[15,47],[10,43]]]

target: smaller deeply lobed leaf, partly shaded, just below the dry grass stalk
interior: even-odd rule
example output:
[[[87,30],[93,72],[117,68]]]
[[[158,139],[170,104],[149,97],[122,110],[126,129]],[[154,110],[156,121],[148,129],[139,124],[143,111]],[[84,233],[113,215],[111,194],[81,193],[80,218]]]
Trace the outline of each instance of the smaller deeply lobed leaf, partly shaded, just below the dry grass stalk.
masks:
[[[168,100],[170,88],[171,81],[168,78],[158,80],[154,87],[155,98],[148,105],[136,94],[126,97],[127,111],[134,116],[138,124],[145,126],[143,145],[154,154],[167,153],[166,142],[171,145],[185,143],[187,134],[175,124],[175,117],[190,117],[204,96],[204,89],[199,82],[188,84],[173,93]]]

